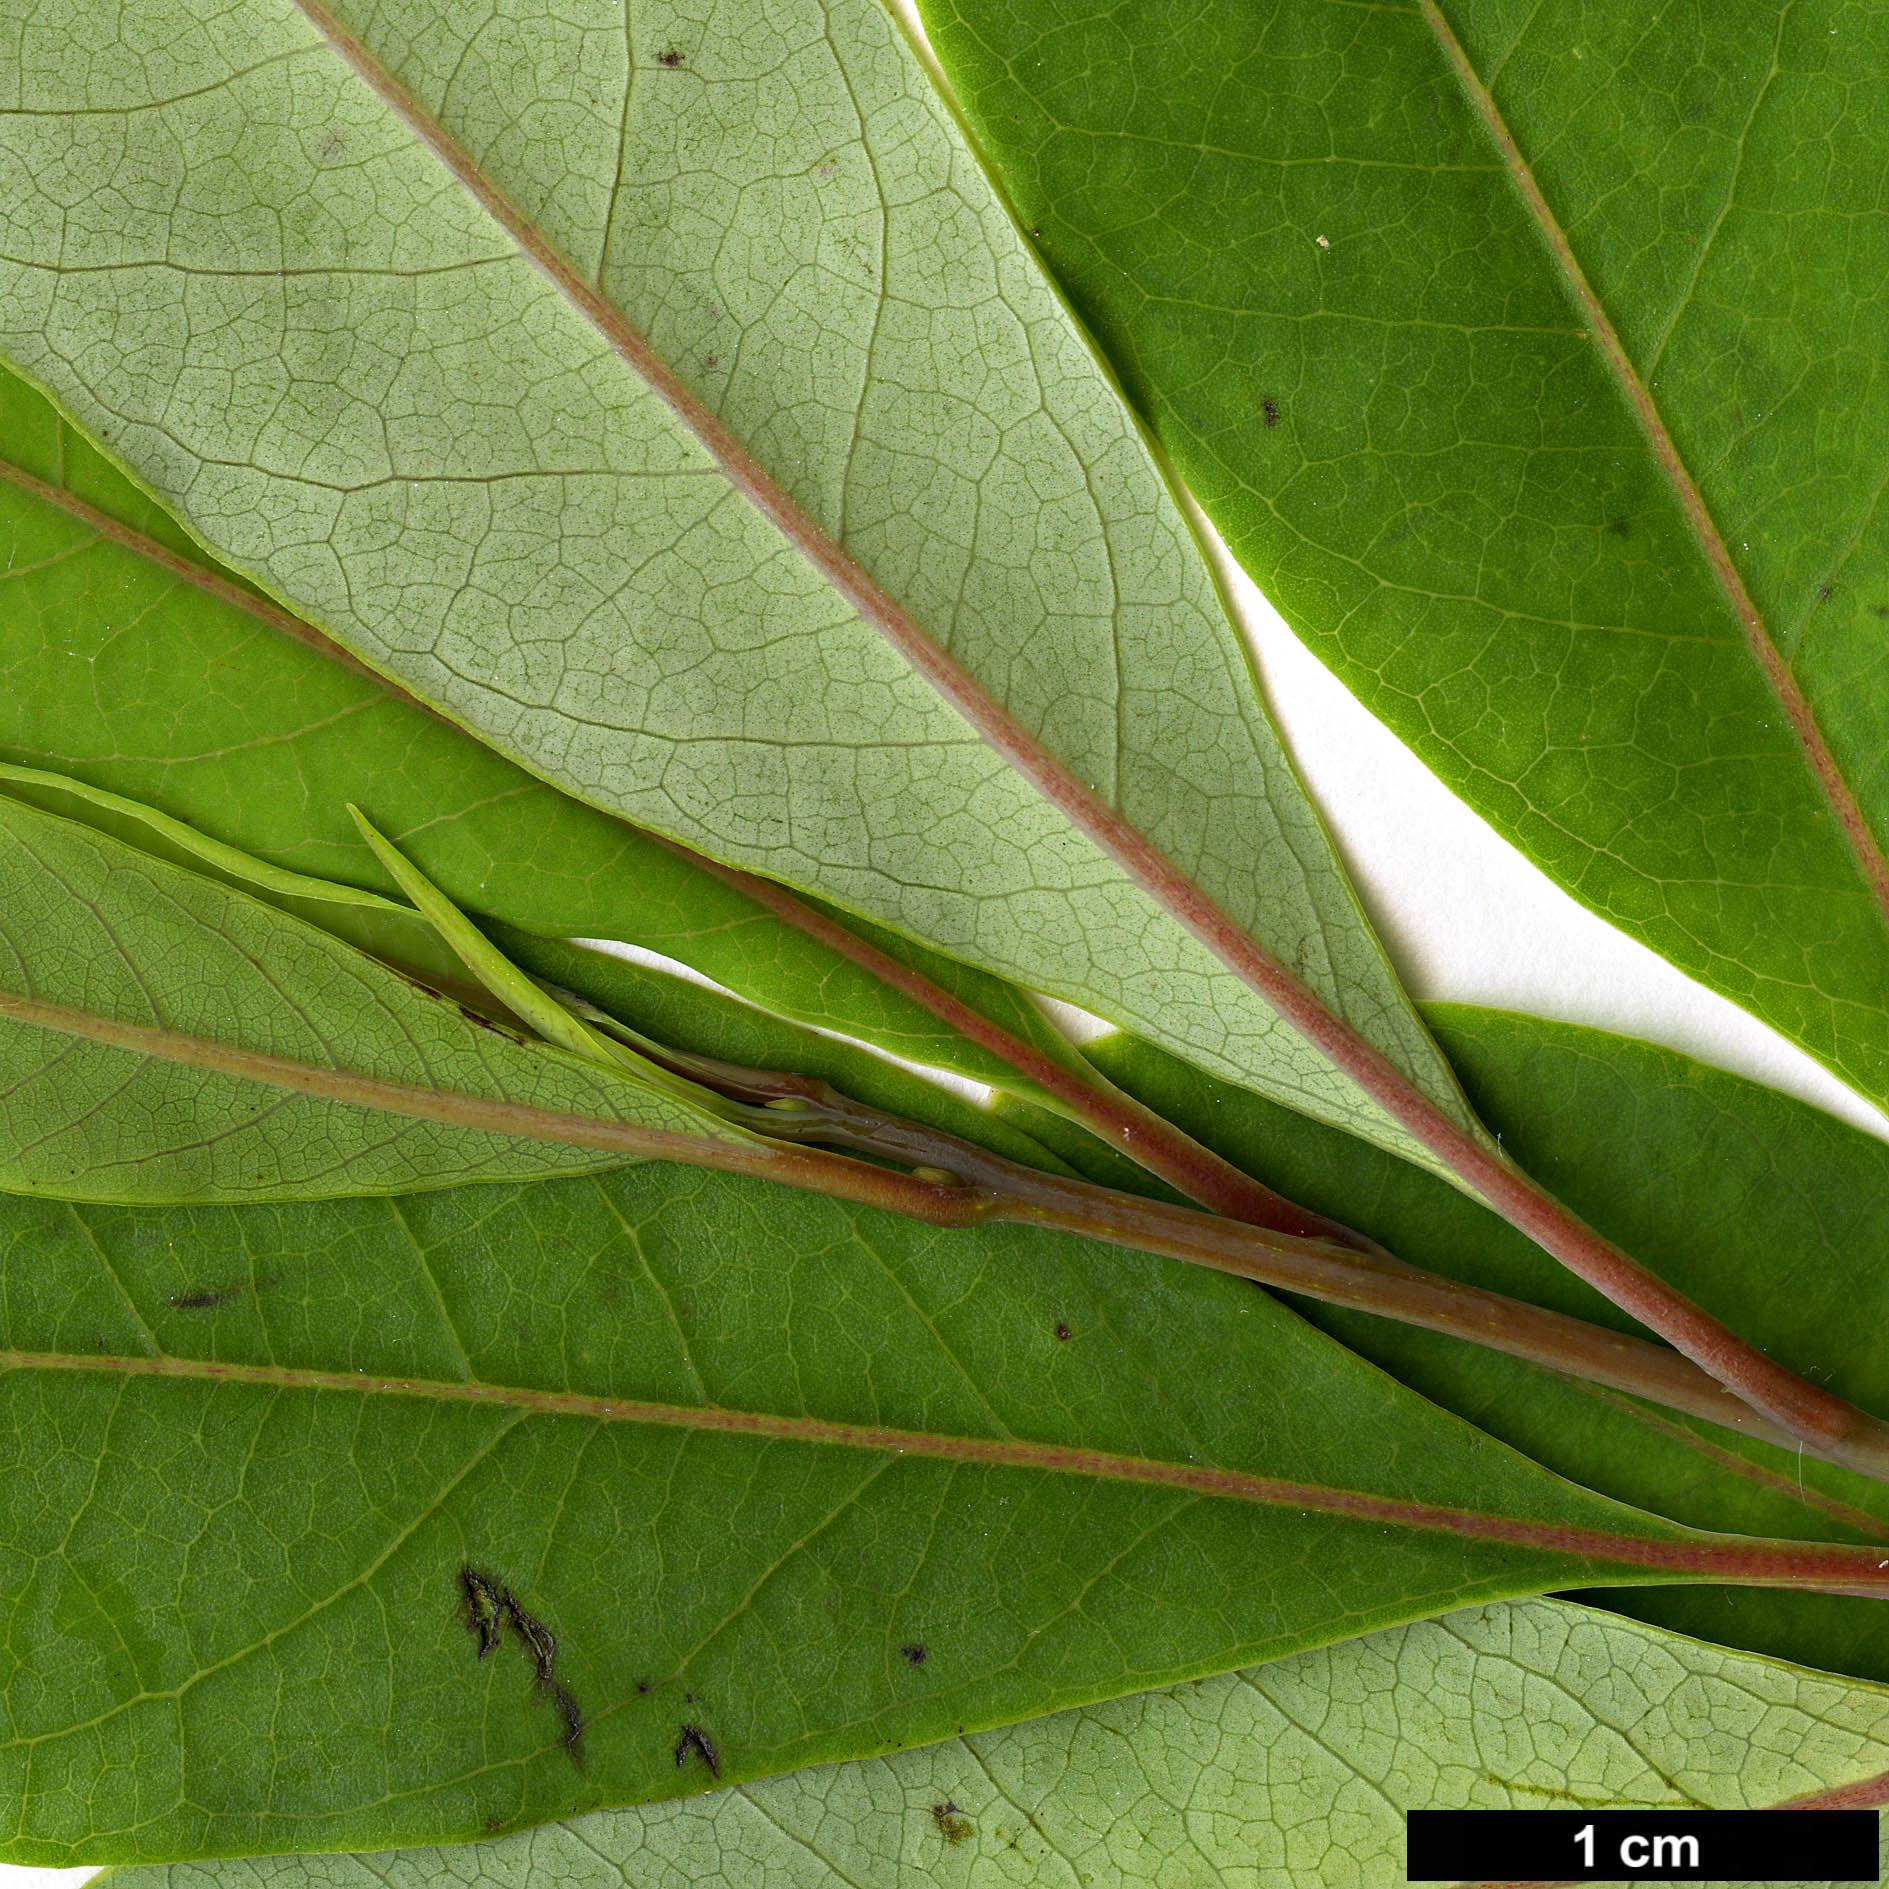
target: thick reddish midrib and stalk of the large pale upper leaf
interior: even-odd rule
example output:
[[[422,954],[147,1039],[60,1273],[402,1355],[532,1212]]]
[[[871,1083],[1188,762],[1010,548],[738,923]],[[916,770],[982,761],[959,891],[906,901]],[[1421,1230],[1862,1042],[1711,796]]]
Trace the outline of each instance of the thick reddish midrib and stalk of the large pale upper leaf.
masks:
[[[1030,737],[1014,716],[952,661],[910,614],[773,480],[746,444],[706,408],[676,370],[601,291],[586,281],[446,128],[342,26],[319,0],[297,0],[332,51],[419,136],[519,251],[603,334],[616,353],[667,402],[727,480],[793,544],[861,618],[948,701],[984,742],[1009,761],[1073,825],[1090,835],[1173,918],[1249,988],[1258,992],[1336,1067],[1345,1071],[1422,1147],[1458,1173],[1498,1213],[1587,1279],[1609,1300],[1659,1332],[1681,1353],[1730,1385],[1753,1407],[1819,1447],[1842,1449],[1870,1430],[1870,1419],[1840,1398],[1774,1366],[1651,1271],[1604,1241],[1566,1207],[1513,1169],[1500,1154],[1451,1120],[1400,1069],[1332,1014],[1285,965],[1266,952],[1207,893],[1094,790]],[[1889,1464],[1889,1436],[1870,1438],[1870,1472]]]

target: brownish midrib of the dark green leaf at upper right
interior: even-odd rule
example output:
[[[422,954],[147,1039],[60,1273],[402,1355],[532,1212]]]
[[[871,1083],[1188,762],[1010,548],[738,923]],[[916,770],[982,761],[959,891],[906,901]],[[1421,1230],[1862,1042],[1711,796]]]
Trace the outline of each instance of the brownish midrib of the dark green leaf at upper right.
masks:
[[[1876,835],[1863,816],[1863,808],[1849,791],[1849,784],[1844,780],[1842,771],[1836,765],[1836,757],[1830,754],[1829,744],[1823,739],[1823,729],[1817,723],[1810,701],[1796,686],[1796,678],[1791,674],[1789,663],[1778,648],[1778,642],[1772,638],[1764,614],[1759,610],[1757,601],[1747,589],[1745,580],[1732,559],[1730,544],[1727,542],[1725,533],[1719,531],[1717,519],[1713,519],[1711,508],[1706,504],[1706,495],[1698,489],[1698,482],[1693,478],[1691,467],[1685,463],[1672,431],[1666,427],[1666,417],[1659,408],[1659,400],[1653,397],[1651,385],[1634,366],[1632,355],[1628,355],[1626,344],[1621,340],[1600,293],[1589,281],[1587,270],[1581,268],[1581,263],[1574,253],[1574,244],[1568,238],[1568,232],[1562,229],[1560,219],[1555,215],[1541,191],[1541,185],[1536,181],[1534,166],[1523,155],[1515,134],[1509,130],[1507,121],[1502,115],[1502,110],[1496,106],[1489,87],[1477,76],[1468,51],[1456,38],[1455,28],[1443,15],[1441,6],[1438,0],[1417,0],[1417,8],[1443,55],[1443,62],[1456,79],[1464,102],[1475,113],[1485,136],[1494,145],[1496,157],[1507,172],[1509,183],[1513,185],[1528,221],[1534,225],[1536,234],[1541,238],[1557,274],[1562,278],[1570,297],[1581,310],[1581,315],[1587,321],[1589,338],[1592,340],[1608,376],[1613,380],[1626,410],[1640,427],[1640,433],[1653,453],[1653,461],[1672,491],[1674,502],[1677,504],[1687,529],[1693,533],[1693,540],[1698,546],[1706,567],[1711,570],[1713,582],[1719,586],[1719,593],[1725,597],[1732,616],[1738,620],[1738,627],[1745,638],[1745,648],[1757,665],[1759,674],[1764,678],[1766,688],[1772,691],[1772,697],[1778,701],[1779,712],[1789,722],[1798,748],[1804,754],[1804,763],[1830,812],[1836,816],[1836,824],[1851,858],[1855,859],[1857,871],[1863,875],[1870,888],[1870,895],[1876,899],[1878,912],[1883,922],[1889,922],[1889,858],[1883,856]],[[1704,266],[1704,251],[1700,251],[1696,266]],[[1677,315],[1674,319],[1677,319]]]

